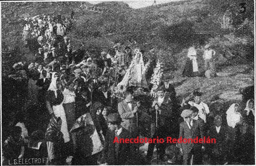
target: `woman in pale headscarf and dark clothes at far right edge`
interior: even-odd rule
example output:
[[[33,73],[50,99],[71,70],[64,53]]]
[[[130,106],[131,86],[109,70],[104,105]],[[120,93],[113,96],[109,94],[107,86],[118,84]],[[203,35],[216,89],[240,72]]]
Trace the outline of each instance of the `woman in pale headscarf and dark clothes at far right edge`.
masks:
[[[254,100],[250,99],[247,101],[244,112],[246,113],[246,123],[248,124],[248,130],[254,134]]]

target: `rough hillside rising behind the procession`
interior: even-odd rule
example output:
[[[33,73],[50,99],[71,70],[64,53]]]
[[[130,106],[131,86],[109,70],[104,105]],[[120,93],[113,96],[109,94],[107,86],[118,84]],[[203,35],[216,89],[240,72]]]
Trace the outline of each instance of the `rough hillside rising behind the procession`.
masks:
[[[246,12],[242,14],[239,11],[240,2],[247,3]],[[239,93],[241,87],[237,86],[243,85],[245,88],[254,83],[254,64],[251,63],[254,60],[254,5],[251,0],[188,0],[141,9],[132,9],[123,2],[103,2],[94,5],[113,11],[109,13],[89,11],[81,7],[81,4],[89,5],[89,2],[1,3],[2,45],[16,49],[16,58],[12,61],[33,59],[33,55],[21,42],[22,18],[58,13],[69,17],[73,10],[76,27],[68,36],[75,49],[82,47],[101,52],[112,47],[117,41],[124,44],[128,40],[136,41],[136,45],[132,47],[139,47],[146,51],[146,56],[164,61],[165,79],[178,82],[182,80],[183,84],[176,87],[180,97],[201,86],[205,93],[212,95],[204,96],[207,102],[211,102],[219,100],[216,96],[225,91]],[[222,27],[225,21],[224,14],[232,20],[230,28]],[[187,48],[192,43],[202,46],[207,42],[211,43],[217,52],[218,73],[227,73],[228,70],[236,72],[231,76],[227,74],[210,80],[204,77],[182,78],[181,71]],[[155,53],[148,54],[147,51],[153,48]],[[198,55],[201,69],[202,50],[198,51]],[[5,57],[2,60],[5,62]],[[237,71],[237,65],[245,75]],[[217,86],[220,82],[222,86]]]

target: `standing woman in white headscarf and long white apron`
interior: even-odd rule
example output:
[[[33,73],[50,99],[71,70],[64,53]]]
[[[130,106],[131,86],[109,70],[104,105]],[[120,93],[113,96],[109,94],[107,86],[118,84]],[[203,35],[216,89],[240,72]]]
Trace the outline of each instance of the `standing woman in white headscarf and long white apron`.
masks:
[[[52,73],[52,82],[46,94],[46,106],[49,114],[61,117],[61,132],[63,133],[64,142],[67,143],[70,141],[70,137],[68,133],[66,114],[62,105],[64,97],[60,89],[61,82],[58,79],[58,74],[56,72]]]

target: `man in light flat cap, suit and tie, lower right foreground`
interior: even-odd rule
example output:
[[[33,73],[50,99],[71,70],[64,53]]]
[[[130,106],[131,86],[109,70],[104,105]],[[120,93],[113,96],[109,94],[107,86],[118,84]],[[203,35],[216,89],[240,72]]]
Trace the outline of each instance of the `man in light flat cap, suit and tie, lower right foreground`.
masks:
[[[203,138],[203,131],[200,127],[200,121],[192,119],[191,116],[193,111],[191,109],[185,109],[181,113],[181,117],[185,121],[180,123],[180,134],[179,138],[182,139],[200,139]],[[201,146],[200,143],[178,143],[178,148],[180,148],[181,153],[183,153],[183,165],[188,165],[189,162],[192,164],[200,165],[200,154],[201,149],[204,149],[204,146]],[[202,161],[202,159],[201,159]],[[191,164],[191,163],[190,163]]]

